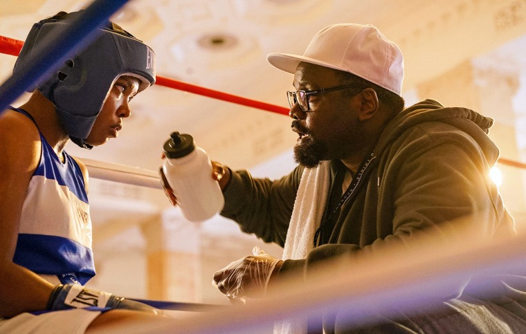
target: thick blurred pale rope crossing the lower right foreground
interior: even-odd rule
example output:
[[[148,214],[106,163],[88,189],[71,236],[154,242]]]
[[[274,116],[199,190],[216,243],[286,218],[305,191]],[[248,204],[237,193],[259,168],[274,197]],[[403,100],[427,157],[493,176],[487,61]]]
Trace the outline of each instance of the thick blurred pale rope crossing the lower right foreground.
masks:
[[[446,236],[453,237],[449,232]],[[266,333],[262,331],[268,331],[269,325],[287,317],[342,309],[343,319],[363,325],[377,312],[389,316],[394,309],[408,313],[425,310],[430,307],[430,295],[449,293],[449,284],[465,277],[526,269],[524,234],[487,242],[457,239],[453,245],[443,243],[443,236],[433,234],[411,250],[395,248],[375,257],[363,254],[363,261],[352,266],[327,263],[330,270],[320,268],[310,283],[289,281],[272,297],[253,299],[244,306],[192,313],[168,322],[111,328],[111,333]],[[482,296],[491,293],[484,284],[475,290]]]

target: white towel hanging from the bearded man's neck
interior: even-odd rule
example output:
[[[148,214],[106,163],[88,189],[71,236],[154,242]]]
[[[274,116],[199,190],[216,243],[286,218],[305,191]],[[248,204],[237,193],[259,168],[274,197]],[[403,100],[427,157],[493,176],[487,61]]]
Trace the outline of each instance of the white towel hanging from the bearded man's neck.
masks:
[[[320,226],[330,183],[329,161],[305,168],[296,194],[282,259],[306,259],[314,249],[314,234]],[[288,319],[274,325],[274,334],[307,333],[307,319]]]

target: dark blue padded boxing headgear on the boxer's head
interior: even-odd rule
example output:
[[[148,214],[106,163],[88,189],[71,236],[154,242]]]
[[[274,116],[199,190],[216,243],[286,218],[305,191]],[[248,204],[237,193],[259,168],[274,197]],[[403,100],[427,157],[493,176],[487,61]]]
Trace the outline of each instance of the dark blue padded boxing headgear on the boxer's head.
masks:
[[[56,37],[59,25],[68,24],[80,12],[66,14],[60,19],[44,19],[31,28],[15,63],[25,64],[30,55]],[[111,87],[121,75],[137,77],[138,91],[155,82],[155,53],[142,41],[108,22],[102,32],[86,48],[64,62],[53,76],[37,84],[37,88],[55,105],[57,115],[75,144],[90,149],[84,142]]]

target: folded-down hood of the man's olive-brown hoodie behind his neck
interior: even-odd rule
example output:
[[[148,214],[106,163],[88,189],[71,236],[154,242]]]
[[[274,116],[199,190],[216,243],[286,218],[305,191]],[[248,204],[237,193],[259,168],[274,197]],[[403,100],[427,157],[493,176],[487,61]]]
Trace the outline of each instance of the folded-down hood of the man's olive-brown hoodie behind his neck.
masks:
[[[404,132],[425,122],[444,122],[467,133],[478,142],[489,165],[496,163],[499,156],[498,147],[487,136],[493,119],[467,108],[444,107],[435,100],[424,100],[394,116],[383,129],[375,151],[381,156]]]

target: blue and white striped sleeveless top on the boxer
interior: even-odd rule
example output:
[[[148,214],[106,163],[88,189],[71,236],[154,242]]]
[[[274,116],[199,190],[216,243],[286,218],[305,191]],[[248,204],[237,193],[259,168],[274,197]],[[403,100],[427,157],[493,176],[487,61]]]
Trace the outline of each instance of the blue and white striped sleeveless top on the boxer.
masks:
[[[33,120],[26,111],[13,110]],[[63,284],[85,284],[95,266],[82,171],[66,152],[62,163],[42,133],[40,141],[42,154],[24,199],[13,262],[40,275],[57,275]]]

